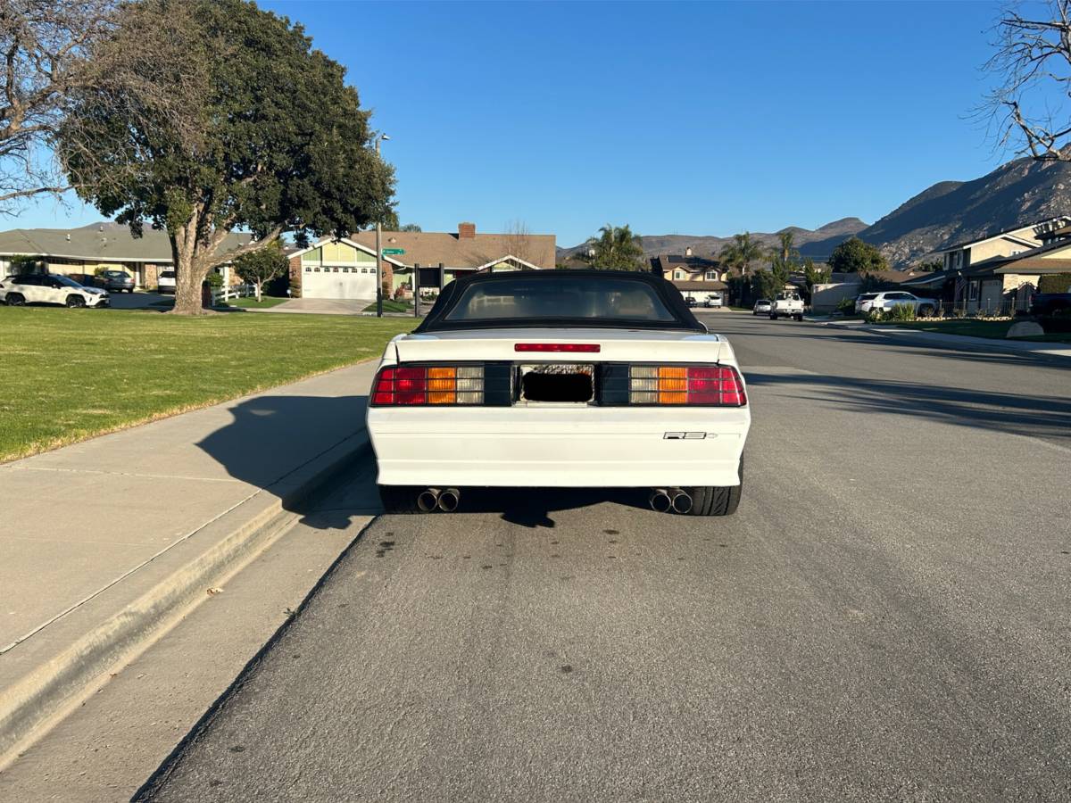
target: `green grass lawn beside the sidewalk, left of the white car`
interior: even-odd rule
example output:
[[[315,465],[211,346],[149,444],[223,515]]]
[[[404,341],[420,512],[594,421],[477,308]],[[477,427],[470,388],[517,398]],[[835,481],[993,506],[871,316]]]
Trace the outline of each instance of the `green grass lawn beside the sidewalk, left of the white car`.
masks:
[[[0,461],[379,357],[414,324],[0,306]]]

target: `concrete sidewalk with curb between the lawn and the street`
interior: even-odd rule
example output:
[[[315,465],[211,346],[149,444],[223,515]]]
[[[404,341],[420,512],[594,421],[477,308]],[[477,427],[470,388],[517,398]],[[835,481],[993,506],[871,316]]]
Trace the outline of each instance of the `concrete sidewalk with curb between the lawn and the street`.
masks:
[[[365,453],[375,365],[0,466],[0,763]]]

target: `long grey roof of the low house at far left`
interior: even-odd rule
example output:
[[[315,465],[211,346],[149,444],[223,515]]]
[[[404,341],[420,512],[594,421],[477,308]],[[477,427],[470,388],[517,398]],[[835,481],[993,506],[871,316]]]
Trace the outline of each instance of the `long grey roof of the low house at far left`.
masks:
[[[247,232],[230,233],[220,246],[225,253],[253,239]],[[11,229],[0,231],[0,255],[95,259],[102,262],[171,261],[167,232],[145,229],[134,237],[130,227],[117,223],[94,223],[77,229]]]

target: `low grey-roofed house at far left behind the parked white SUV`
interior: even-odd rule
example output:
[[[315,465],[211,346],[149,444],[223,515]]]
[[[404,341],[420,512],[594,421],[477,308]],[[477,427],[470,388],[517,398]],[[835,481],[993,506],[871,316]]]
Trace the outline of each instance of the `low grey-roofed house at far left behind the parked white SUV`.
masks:
[[[252,240],[248,233],[232,233],[221,246],[230,251]],[[138,288],[154,289],[161,269],[171,267],[167,233],[146,228],[134,237],[118,223],[94,223],[76,229],[11,229],[0,231],[0,278],[11,270],[12,257],[34,257],[48,273],[94,274],[100,270],[123,270]]]

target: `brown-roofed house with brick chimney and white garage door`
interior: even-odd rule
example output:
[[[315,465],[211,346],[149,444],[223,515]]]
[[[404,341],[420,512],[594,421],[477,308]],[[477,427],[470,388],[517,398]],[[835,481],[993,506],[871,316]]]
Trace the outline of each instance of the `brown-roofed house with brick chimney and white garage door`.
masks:
[[[476,224],[461,223],[457,231],[382,231],[384,284],[394,292],[438,292],[440,283],[476,271],[542,270],[554,268],[554,234],[482,234]],[[376,296],[376,232],[348,238],[322,238],[290,252],[290,289],[295,296],[316,299],[373,299]]]

